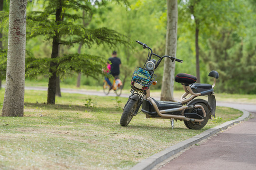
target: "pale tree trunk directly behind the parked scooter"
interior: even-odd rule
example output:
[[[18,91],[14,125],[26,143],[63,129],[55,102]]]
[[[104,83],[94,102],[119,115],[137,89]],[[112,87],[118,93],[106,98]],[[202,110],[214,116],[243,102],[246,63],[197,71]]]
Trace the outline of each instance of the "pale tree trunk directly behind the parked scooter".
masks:
[[[176,57],[177,47],[177,0],[167,0],[167,32],[165,55]],[[165,59],[164,75],[162,82],[161,101],[174,101],[174,74],[175,63]]]

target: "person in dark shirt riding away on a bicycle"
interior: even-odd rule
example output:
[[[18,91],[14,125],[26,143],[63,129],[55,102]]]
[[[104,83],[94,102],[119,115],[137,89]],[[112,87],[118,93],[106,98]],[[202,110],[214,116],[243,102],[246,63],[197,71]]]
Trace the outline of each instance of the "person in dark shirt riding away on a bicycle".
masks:
[[[115,77],[115,79],[119,78],[120,74],[120,66],[121,66],[121,59],[117,57],[117,51],[112,52],[112,57],[109,58],[110,64],[110,74]],[[110,89],[112,89],[113,85],[109,80],[107,80],[108,84],[110,85]]]

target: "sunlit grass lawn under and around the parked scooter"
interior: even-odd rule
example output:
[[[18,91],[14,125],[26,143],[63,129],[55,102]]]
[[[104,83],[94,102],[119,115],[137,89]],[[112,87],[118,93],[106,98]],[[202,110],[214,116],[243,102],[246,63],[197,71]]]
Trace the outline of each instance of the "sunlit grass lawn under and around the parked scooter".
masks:
[[[0,90],[0,110],[4,89]],[[0,117],[0,170],[128,170],[139,161],[236,119],[242,112],[217,107],[216,119],[201,130],[182,121],[146,119],[128,127],[119,119],[126,98],[62,93],[47,105],[46,91],[25,91],[24,117]],[[1,112],[1,111],[0,111]]]

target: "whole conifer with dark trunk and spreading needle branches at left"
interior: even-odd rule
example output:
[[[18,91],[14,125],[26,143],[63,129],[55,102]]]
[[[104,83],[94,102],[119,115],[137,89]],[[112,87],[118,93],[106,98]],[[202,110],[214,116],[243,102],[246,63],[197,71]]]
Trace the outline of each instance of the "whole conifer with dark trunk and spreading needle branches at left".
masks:
[[[127,0],[113,0],[128,4]],[[98,77],[102,74],[106,60],[95,54],[66,53],[60,55],[60,45],[75,45],[91,48],[92,45],[126,44],[125,37],[106,27],[87,28],[95,10],[105,4],[105,0],[37,0],[44,9],[33,9],[27,12],[27,39],[44,36],[45,41],[52,41],[51,59],[28,58],[26,75],[36,77],[49,75],[49,89],[55,89],[55,76],[64,77],[73,72],[81,72],[86,76]],[[79,47],[81,48],[81,47]],[[49,72],[48,72],[49,70]],[[54,91],[48,91],[48,102],[54,104]],[[50,94],[50,95],[49,95]]]

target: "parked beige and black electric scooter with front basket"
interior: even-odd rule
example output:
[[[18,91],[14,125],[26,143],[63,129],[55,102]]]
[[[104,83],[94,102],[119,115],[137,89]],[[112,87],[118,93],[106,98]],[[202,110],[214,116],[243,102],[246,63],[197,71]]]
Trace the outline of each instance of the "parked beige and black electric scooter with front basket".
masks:
[[[157,76],[154,74],[155,69],[164,58],[180,63],[183,60],[167,55],[161,57],[153,53],[152,49],[145,43],[136,42],[142,45],[144,49],[148,49],[148,56],[143,68],[137,67],[133,73],[131,94],[123,108],[120,125],[128,126],[131,119],[137,115],[141,106],[141,111],[146,114],[146,118],[170,119],[172,128],[174,127],[174,120],[184,121],[185,126],[189,129],[203,128],[211,117],[215,117],[216,100],[213,87],[215,86],[216,79],[219,78],[219,73],[214,70],[209,73],[208,76],[214,78],[213,85],[195,83],[197,78],[189,74],[177,74],[175,82],[181,83],[185,91],[180,101],[156,101],[149,96],[150,86],[156,84],[155,78]],[[152,56],[156,56],[159,59],[157,61],[151,59]],[[198,96],[208,96],[208,101],[195,99]]]

